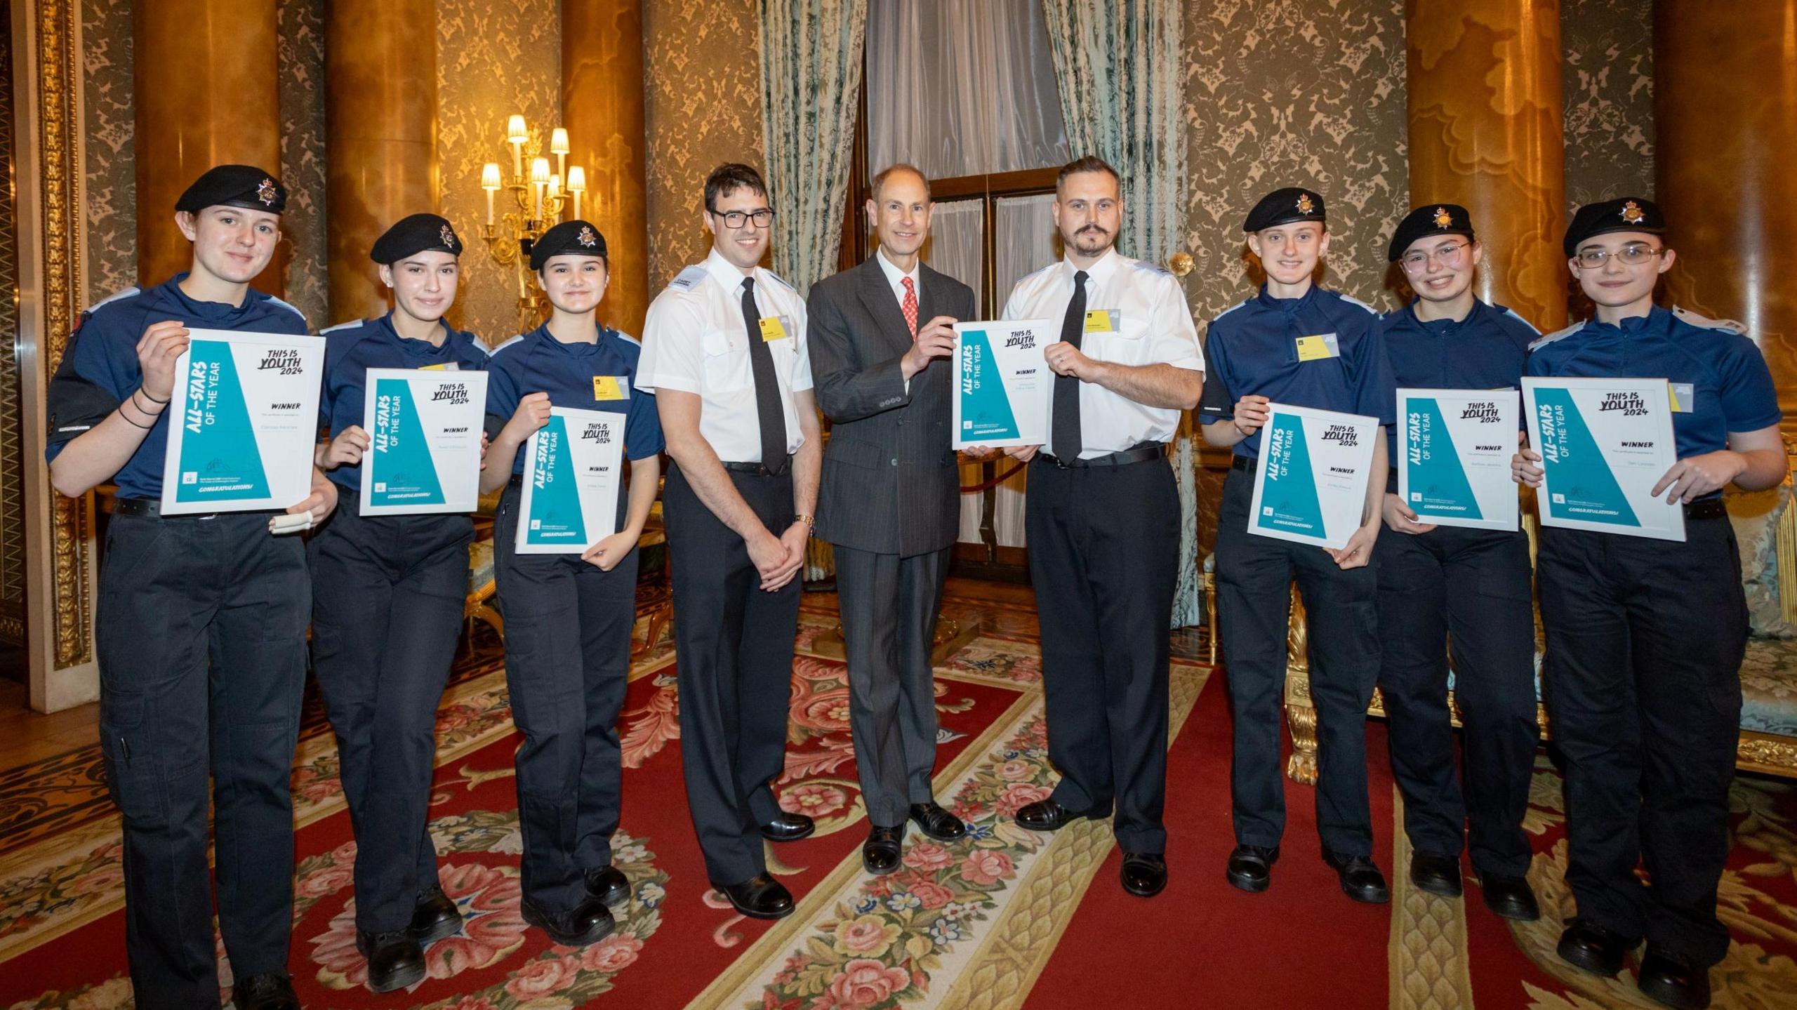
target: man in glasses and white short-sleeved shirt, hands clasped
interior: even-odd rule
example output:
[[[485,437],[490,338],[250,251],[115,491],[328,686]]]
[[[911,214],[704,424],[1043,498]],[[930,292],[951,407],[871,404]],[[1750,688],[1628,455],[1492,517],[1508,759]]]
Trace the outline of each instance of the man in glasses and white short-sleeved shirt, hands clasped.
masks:
[[[742,915],[791,915],[762,837],[810,818],[780,809],[798,573],[818,501],[821,440],[805,354],[805,300],[757,266],[773,208],[748,165],[704,182],[712,255],[649,306],[636,388],[656,394],[674,580],[686,805],[706,875]]]

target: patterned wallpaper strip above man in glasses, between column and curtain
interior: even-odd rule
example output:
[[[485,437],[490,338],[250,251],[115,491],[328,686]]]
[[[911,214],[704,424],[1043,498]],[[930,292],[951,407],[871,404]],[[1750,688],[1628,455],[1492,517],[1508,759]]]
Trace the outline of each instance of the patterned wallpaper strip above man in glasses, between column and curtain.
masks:
[[[704,176],[722,162],[762,167],[755,0],[647,0],[649,293],[710,246]]]

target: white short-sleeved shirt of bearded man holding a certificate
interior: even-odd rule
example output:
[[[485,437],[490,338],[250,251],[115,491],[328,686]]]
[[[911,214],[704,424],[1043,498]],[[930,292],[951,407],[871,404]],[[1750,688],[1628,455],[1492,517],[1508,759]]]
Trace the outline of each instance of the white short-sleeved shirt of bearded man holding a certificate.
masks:
[[[1071,262],[1060,261],[1024,277],[1005,302],[1005,318],[1051,320],[1051,332],[1058,334],[1073,300],[1075,271]],[[1109,309],[1118,320],[1114,331],[1080,334],[1080,350],[1087,358],[1204,370],[1199,331],[1172,273],[1111,250],[1085,275],[1085,311]],[[1048,431],[1053,431],[1053,395],[1048,397]],[[1080,383],[1080,458],[1121,453],[1141,442],[1170,442],[1179,433],[1179,413],[1170,406],[1143,406],[1098,383]],[[1057,455],[1053,435],[1044,449]]]

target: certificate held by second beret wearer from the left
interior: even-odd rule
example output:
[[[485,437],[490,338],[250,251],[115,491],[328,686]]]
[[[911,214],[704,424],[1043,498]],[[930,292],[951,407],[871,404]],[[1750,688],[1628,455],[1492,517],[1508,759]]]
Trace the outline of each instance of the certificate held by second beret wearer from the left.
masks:
[[[361,516],[480,507],[485,372],[368,368],[363,379]]]

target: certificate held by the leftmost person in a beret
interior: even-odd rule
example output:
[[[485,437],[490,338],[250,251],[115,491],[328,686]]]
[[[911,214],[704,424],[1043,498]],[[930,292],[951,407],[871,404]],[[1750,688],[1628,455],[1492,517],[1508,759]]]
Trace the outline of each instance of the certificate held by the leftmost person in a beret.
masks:
[[[174,361],[162,514],[288,509],[313,492],[316,336],[192,329]]]

